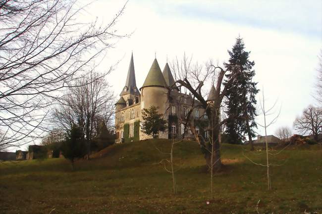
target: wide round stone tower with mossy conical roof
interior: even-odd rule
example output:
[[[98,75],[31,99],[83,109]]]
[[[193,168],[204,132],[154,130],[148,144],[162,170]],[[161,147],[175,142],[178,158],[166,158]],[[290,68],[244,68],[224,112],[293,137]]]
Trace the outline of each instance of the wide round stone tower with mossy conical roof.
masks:
[[[164,115],[164,119],[168,119],[168,88],[162,75],[159,63],[155,59],[152,63],[147,78],[144,81],[141,91],[141,110],[150,108],[151,106],[159,107],[158,111]],[[142,121],[142,116],[141,119]],[[142,137],[142,138],[141,138]],[[151,138],[140,131],[140,139]],[[168,138],[168,131],[160,133],[160,138]]]

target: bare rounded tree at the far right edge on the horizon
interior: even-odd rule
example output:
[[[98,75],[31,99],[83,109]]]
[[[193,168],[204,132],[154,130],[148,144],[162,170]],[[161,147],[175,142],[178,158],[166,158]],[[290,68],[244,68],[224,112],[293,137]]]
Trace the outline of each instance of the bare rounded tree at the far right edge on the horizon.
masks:
[[[294,121],[294,129],[302,134],[312,134],[316,141],[319,141],[319,134],[322,133],[322,109],[312,105],[305,108],[302,115]]]

